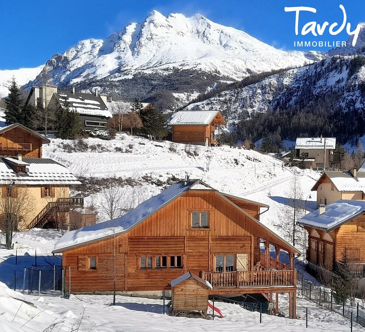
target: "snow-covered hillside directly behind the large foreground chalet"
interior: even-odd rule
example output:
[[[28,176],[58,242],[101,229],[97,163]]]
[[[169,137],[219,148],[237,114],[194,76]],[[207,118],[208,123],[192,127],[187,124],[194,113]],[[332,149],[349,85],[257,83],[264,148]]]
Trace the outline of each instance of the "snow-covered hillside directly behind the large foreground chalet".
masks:
[[[310,189],[319,178],[319,173],[305,169],[283,167],[281,160],[254,150],[244,148],[188,146],[173,144],[176,152],[169,148],[169,141],[155,142],[146,138],[118,134],[110,141],[98,138],[82,140],[88,148],[79,152],[68,152],[65,144],[77,145],[76,141],[52,139],[43,146],[43,157],[51,158],[69,168],[75,175],[96,178],[132,178],[142,180],[151,176],[166,181],[172,175],[183,179],[202,179],[211,187],[237,196],[244,196],[270,205],[269,211],[261,215],[260,221],[275,230],[277,211],[285,203],[286,192],[291,180],[297,176],[307,200],[308,210],[315,209],[316,193]],[[185,150],[196,150],[197,156]],[[209,163],[209,171],[204,167]],[[143,183],[143,200],[159,194],[161,188]],[[126,191],[130,188],[124,188]],[[97,201],[97,195],[85,199],[86,204]],[[137,202],[138,203],[138,202]],[[100,221],[107,220],[101,216]]]

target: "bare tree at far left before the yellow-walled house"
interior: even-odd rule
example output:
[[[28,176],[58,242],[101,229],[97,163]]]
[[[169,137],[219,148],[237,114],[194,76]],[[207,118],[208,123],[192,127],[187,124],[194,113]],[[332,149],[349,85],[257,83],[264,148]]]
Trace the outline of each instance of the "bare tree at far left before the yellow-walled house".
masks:
[[[0,229],[4,233],[7,249],[11,249],[14,231],[27,226],[24,222],[29,219],[33,207],[33,199],[27,188],[18,188],[15,182],[2,187]]]

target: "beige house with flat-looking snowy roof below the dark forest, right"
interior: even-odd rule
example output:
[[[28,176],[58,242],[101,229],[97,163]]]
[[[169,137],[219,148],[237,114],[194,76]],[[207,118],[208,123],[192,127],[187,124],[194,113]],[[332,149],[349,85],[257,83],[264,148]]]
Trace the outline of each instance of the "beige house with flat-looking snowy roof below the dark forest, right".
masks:
[[[326,146],[326,148],[324,148]],[[323,170],[329,167],[333,159],[333,150],[336,148],[335,137],[298,137],[295,143],[296,160],[304,155],[307,168]],[[324,152],[326,151],[326,152]]]

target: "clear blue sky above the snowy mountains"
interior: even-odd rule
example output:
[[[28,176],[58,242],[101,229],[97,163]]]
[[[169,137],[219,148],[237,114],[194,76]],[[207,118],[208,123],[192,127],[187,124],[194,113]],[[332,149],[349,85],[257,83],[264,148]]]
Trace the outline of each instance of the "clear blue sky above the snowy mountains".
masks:
[[[233,26],[270,45],[285,50],[306,50],[294,47],[294,41],[346,41],[346,29],[332,36],[328,27],[320,37],[301,36],[301,27],[309,21],[323,24],[338,22],[345,7],[347,22],[353,30],[365,22],[365,2],[347,1],[269,1],[269,0],[0,0],[0,69],[34,67],[44,64],[53,54],[87,38],[106,38],[122,30],[129,22],[142,22],[152,9],[167,16],[199,13],[208,19]],[[284,7],[314,7],[317,12],[300,13],[299,35],[295,35],[295,13]],[[311,49],[314,49],[311,47]],[[327,51],[324,47],[317,50]]]

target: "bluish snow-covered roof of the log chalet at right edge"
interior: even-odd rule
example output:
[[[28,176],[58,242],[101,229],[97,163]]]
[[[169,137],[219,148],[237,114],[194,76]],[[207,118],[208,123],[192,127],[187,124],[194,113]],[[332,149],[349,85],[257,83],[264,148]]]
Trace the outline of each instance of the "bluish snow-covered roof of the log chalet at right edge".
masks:
[[[330,232],[363,214],[365,212],[365,201],[341,199],[326,205],[325,209],[326,211],[322,214],[319,214],[319,209],[306,214],[298,220],[298,224]]]

